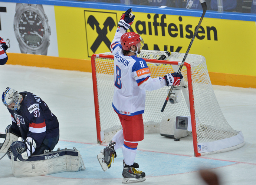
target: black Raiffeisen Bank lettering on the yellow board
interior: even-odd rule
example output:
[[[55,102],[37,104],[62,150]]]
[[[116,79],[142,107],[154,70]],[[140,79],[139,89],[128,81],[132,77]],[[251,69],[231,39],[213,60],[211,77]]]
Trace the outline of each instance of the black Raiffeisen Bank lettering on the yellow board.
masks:
[[[135,17],[129,32],[140,34],[144,40],[144,50],[186,52],[187,44],[193,38],[198,25],[198,18],[190,16],[140,13],[138,17],[140,19]],[[214,22],[203,22],[196,39],[203,42],[219,42],[217,25],[219,24]]]

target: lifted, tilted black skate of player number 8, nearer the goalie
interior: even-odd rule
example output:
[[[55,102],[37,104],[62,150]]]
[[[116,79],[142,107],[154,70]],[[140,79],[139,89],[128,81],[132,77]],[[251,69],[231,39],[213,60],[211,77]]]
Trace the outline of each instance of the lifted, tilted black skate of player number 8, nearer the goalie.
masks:
[[[101,150],[101,153],[97,155],[99,164],[101,168],[105,172],[108,168],[111,167],[112,159],[114,162],[114,158],[116,157],[116,152],[114,150],[115,142],[110,141],[108,146]]]

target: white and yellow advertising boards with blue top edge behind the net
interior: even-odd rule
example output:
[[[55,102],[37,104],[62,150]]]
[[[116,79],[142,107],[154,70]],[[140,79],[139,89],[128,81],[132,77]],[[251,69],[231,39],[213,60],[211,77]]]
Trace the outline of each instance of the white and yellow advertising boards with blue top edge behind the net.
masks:
[[[61,3],[52,6],[0,2],[0,36],[6,40],[8,52],[86,60],[93,53],[110,52],[118,21],[127,7],[93,3],[74,7],[78,5],[70,2],[72,7],[69,7],[68,3],[65,6]],[[143,49],[180,53],[186,53],[202,13],[131,8],[135,20],[129,31],[141,35],[145,42]],[[209,72],[256,76],[256,63],[252,62],[256,16],[235,13],[230,16],[206,12],[189,53],[203,55]],[[247,62],[250,67],[246,67]]]

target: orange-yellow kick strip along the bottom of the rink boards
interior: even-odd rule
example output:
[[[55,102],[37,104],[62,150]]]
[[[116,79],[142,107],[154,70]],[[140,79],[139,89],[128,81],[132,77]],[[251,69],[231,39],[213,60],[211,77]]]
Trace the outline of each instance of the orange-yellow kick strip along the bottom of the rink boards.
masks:
[[[7,64],[92,72],[91,60],[35,54],[7,53]],[[256,76],[209,72],[212,85],[256,88]]]

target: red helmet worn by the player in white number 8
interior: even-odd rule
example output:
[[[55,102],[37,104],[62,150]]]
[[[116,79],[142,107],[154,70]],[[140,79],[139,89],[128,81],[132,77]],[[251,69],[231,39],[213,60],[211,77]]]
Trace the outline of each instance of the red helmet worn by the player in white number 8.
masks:
[[[141,43],[141,47],[144,46],[144,41],[138,33],[127,32],[121,37],[122,48],[126,51],[129,51],[131,46],[136,46],[138,43]]]

